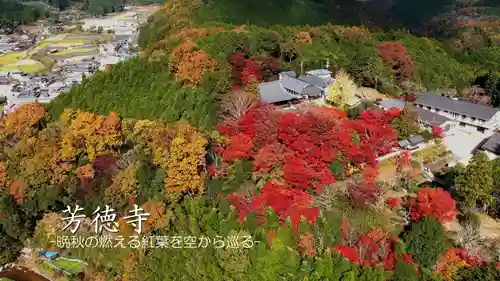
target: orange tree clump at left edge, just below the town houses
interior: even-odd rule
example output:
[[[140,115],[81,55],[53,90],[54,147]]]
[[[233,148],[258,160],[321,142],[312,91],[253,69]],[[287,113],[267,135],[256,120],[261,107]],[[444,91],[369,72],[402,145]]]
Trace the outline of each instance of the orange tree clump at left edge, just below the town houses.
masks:
[[[7,114],[7,117],[0,118],[0,140],[12,134],[22,133],[44,118],[45,108],[43,104],[38,102],[24,104]]]

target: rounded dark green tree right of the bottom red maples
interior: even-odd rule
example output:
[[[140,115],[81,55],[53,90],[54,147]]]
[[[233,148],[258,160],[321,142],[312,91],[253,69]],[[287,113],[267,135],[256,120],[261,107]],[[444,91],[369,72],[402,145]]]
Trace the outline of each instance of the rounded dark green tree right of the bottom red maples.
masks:
[[[403,240],[408,252],[423,267],[433,266],[449,246],[443,226],[433,217],[424,217],[422,221],[411,224],[403,234]]]

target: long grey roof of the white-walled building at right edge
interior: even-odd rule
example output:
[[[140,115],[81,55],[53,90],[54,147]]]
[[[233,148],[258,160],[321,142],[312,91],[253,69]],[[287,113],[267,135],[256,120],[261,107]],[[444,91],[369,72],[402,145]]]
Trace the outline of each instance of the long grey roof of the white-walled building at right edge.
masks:
[[[493,115],[495,115],[495,113],[498,112],[498,109],[496,108],[491,108],[488,106],[466,101],[453,100],[447,97],[437,96],[430,93],[420,95],[415,103],[483,120],[489,120],[491,117],[493,117]]]

